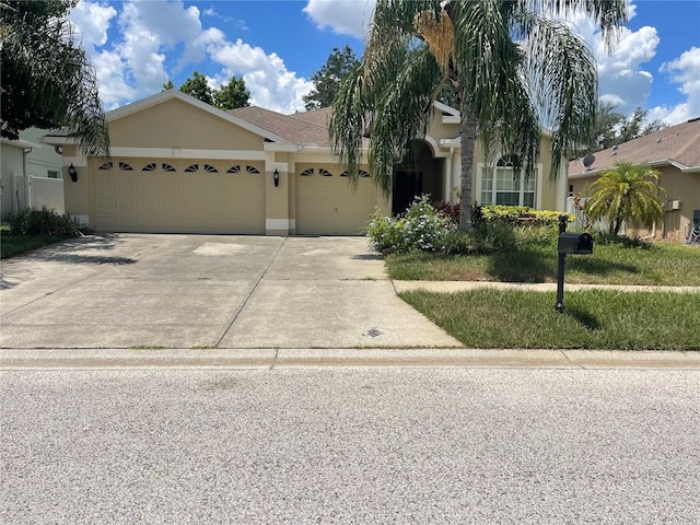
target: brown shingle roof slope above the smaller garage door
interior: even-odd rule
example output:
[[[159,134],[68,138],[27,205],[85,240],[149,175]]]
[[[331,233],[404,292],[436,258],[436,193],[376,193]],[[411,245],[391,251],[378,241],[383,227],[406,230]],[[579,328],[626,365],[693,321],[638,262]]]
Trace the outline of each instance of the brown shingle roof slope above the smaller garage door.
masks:
[[[329,148],[328,108],[294,115],[282,115],[257,106],[238,107],[229,110],[231,115],[278,135],[300,145]],[[315,115],[317,114],[317,115]],[[323,124],[319,124],[323,122]]]

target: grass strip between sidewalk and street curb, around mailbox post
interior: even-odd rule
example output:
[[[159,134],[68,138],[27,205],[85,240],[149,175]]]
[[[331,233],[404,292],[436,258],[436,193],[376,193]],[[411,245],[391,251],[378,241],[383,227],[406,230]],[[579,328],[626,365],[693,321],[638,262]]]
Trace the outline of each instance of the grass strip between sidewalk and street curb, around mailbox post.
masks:
[[[700,294],[480,289],[400,298],[468,348],[700,350]]]

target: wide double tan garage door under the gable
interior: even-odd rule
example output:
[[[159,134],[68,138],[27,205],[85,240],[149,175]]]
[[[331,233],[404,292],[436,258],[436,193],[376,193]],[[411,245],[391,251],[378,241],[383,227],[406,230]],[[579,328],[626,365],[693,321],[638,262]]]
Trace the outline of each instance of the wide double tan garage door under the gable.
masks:
[[[265,234],[261,163],[113,159],[93,170],[98,231]]]

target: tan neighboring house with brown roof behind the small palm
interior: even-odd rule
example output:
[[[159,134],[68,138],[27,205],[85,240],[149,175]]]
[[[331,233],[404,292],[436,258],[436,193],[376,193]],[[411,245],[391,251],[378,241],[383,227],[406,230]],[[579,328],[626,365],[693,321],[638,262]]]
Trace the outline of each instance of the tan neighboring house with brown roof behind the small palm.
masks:
[[[700,118],[598,151],[587,167],[579,159],[569,163],[569,192],[590,197],[588,185],[618,161],[643,164],[661,173],[665,207],[663,224],[651,231],[628,225],[628,233],[684,242],[700,224]]]

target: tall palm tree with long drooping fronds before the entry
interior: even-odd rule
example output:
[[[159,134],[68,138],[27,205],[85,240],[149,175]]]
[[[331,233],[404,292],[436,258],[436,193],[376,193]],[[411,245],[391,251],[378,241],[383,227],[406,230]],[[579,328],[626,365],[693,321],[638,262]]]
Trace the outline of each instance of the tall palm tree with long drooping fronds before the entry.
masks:
[[[540,130],[553,129],[552,175],[562,153],[595,120],[597,73],[584,42],[553,16],[585,10],[605,40],[627,21],[627,0],[378,0],[362,63],[343,82],[329,121],[334,151],[357,175],[370,130],[370,172],[392,190],[393,165],[424,132],[445,88],[460,110],[460,225],[471,218],[477,129],[485,154],[498,148],[534,171]]]

